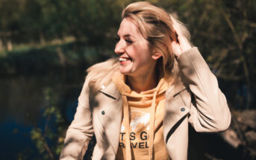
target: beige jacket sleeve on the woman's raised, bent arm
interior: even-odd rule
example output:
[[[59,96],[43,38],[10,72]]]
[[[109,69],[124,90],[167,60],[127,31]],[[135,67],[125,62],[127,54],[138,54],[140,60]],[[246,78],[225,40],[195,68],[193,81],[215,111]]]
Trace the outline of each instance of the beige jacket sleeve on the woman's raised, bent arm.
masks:
[[[189,122],[197,132],[218,132],[228,129],[231,113],[218,81],[210,71],[198,48],[191,48],[178,57],[181,77],[192,92]]]

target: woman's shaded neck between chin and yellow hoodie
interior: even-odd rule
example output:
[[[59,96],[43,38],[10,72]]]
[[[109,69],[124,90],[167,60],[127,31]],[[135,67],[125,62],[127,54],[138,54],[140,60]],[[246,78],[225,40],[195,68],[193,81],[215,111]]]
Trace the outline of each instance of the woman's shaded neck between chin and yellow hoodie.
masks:
[[[155,71],[140,76],[128,76],[126,83],[137,93],[154,89],[157,86],[157,75]]]

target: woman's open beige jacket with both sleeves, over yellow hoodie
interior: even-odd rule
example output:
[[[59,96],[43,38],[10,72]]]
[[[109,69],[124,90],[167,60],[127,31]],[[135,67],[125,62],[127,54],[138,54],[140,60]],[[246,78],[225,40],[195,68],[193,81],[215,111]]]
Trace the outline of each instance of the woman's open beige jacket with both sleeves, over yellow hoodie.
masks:
[[[163,137],[170,158],[185,160],[189,123],[197,132],[218,132],[228,128],[231,114],[216,77],[197,48],[181,54],[178,65],[184,85],[166,91]],[[110,83],[92,94],[87,78],[60,159],[83,159],[93,134],[97,141],[93,159],[115,159],[121,118],[122,97],[116,86]]]

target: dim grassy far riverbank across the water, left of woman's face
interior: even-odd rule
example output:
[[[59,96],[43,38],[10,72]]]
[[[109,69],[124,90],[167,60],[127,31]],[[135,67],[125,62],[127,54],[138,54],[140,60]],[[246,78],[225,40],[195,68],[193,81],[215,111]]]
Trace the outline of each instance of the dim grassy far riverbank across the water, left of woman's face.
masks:
[[[23,47],[6,51],[0,57],[1,77],[20,74],[46,74],[51,70],[88,68],[94,63],[113,57],[112,49],[87,46],[81,42]]]

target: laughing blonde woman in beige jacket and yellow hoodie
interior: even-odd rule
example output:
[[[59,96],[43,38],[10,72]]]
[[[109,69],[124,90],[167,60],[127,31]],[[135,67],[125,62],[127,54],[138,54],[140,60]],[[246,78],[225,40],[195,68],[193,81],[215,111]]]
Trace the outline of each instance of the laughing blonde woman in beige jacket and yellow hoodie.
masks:
[[[228,128],[225,95],[187,29],[149,2],[123,10],[115,52],[93,65],[66,132],[60,159],[187,159],[188,124],[198,132]]]

